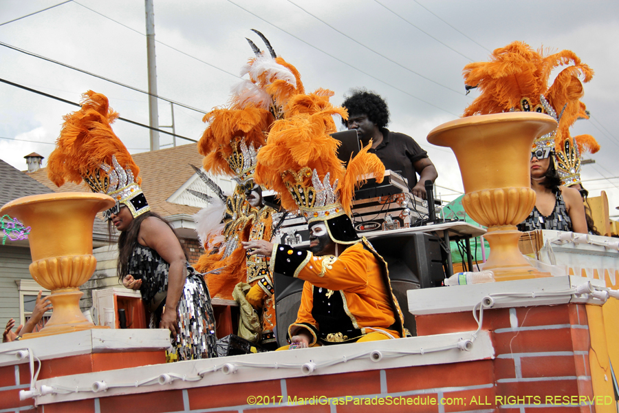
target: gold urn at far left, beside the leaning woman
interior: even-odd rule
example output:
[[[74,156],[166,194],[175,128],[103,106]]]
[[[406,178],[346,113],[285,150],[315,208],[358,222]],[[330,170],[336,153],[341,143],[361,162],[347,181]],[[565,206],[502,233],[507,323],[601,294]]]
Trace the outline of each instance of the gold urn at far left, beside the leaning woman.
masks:
[[[65,192],[32,195],[5,204],[8,214],[30,226],[30,274],[34,281],[52,290],[52,317],[39,332],[24,339],[62,334],[97,327],[80,311],[80,286],[94,273],[92,255],[95,216],[113,207],[114,200],[101,193]]]

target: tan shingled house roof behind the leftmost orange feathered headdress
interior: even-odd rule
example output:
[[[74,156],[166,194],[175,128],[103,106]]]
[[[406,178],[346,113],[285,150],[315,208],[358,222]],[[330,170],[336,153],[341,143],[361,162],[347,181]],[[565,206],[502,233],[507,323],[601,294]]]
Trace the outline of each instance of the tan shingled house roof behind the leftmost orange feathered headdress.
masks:
[[[135,153],[131,155],[135,164],[140,167],[142,178],[142,191],[146,195],[155,211],[164,217],[181,214],[194,214],[199,211],[198,207],[174,204],[167,199],[177,191],[195,173],[189,164],[197,167],[202,166],[202,155],[197,151],[197,144],[182,145],[159,151]],[[45,168],[29,173],[28,176],[36,179],[47,188],[56,192],[89,192],[85,184],[67,182],[58,188],[47,178]]]

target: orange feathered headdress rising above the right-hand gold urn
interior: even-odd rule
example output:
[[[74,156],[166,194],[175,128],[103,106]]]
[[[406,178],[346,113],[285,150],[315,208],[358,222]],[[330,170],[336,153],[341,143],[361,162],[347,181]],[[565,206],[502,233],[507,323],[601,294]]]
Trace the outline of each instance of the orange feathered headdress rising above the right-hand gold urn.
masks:
[[[552,70],[572,63],[562,70],[550,87]],[[552,116],[558,122],[557,131],[571,127],[581,109],[583,82],[593,76],[593,70],[569,50],[545,54],[534,51],[522,42],[514,41],[501,47],[488,62],[469,63],[464,67],[467,89],[478,87],[481,95],[464,111],[464,116],[496,114],[501,112],[539,112]],[[550,156],[558,133],[540,136],[534,140],[532,151]]]

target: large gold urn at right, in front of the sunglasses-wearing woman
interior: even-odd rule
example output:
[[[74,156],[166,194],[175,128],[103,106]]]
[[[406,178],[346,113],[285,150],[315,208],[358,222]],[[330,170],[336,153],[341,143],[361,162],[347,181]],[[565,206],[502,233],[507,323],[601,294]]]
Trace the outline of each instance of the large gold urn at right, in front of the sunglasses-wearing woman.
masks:
[[[530,171],[533,140],[556,126],[556,120],[545,114],[509,112],[452,120],[428,134],[428,142],[450,147],[458,160],[465,191],[462,205],[470,218],[488,227],[484,237],[490,255],[484,270],[493,271],[497,281],[550,276],[523,257],[516,225],[535,205]]]

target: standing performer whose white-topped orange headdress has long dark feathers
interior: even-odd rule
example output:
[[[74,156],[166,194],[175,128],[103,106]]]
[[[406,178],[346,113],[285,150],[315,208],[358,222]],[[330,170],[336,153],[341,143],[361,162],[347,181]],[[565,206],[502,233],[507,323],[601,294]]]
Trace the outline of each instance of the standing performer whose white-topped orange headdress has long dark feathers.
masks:
[[[304,89],[296,68],[276,56],[263,34],[253,31],[265,42],[269,53],[261,52],[248,39],[255,56],[243,67],[241,75],[247,74],[249,78],[233,88],[228,107],[214,109],[204,116],[209,125],[198,144],[199,153],[205,156],[204,169],[231,177],[237,186],[228,200],[221,246],[202,255],[197,266],[204,272],[221,268],[207,279],[214,296],[234,298],[241,301],[239,304],[246,300],[258,310],[261,330],[255,332],[255,337],[252,332],[241,337],[274,348],[274,286],[268,258],[246,255],[240,242],[272,237],[275,211],[263,205],[261,188],[254,184],[256,155],[265,145],[273,121],[283,117],[285,103]],[[248,318],[251,315],[241,311],[243,326],[252,325]]]

